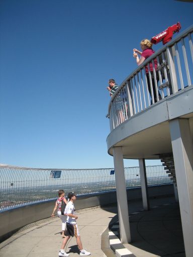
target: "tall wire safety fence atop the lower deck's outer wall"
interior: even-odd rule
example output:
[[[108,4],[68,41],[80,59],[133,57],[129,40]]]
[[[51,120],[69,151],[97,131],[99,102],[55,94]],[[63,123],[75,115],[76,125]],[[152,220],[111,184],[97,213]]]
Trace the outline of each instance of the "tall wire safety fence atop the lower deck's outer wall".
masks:
[[[147,166],[149,186],[170,184],[164,167]],[[139,167],[125,168],[127,188],[141,186]],[[55,199],[59,189],[77,195],[116,190],[113,169],[32,169],[0,166],[0,212],[17,206]]]

